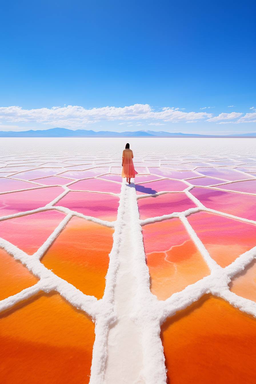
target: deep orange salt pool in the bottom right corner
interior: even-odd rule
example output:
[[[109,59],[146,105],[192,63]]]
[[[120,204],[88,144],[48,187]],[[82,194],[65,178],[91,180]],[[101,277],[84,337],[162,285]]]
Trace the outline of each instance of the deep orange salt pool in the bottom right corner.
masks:
[[[203,297],[162,325],[168,383],[253,384],[256,322],[224,300]]]

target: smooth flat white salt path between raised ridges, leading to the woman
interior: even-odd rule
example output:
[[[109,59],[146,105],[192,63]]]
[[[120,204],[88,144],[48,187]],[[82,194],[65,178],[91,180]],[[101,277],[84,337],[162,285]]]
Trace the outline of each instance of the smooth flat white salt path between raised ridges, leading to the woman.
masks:
[[[129,200],[133,195],[132,187],[124,186],[120,204],[124,204],[124,227],[119,252],[119,269],[114,287],[114,305],[117,321],[110,330],[107,339],[106,384],[144,384],[140,377],[143,368],[141,331],[131,318],[137,290],[134,274],[134,242],[131,237],[132,218]],[[122,201],[124,199],[124,201]]]

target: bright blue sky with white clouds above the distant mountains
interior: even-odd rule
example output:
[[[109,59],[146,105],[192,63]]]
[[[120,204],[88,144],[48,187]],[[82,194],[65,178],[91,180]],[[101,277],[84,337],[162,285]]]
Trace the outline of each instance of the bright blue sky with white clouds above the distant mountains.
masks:
[[[253,1],[2,3],[0,130],[256,132],[255,11]]]

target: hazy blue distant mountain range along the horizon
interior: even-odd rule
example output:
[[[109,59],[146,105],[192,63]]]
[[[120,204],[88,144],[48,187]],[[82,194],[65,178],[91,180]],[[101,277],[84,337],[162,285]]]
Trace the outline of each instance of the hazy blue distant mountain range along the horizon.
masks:
[[[111,132],[111,131],[86,131],[86,129],[52,128],[33,131],[0,131],[0,137],[256,137],[256,133],[243,133],[236,135],[198,135],[194,133],[174,133],[174,132],[155,132],[155,131],[135,131],[135,132]]]

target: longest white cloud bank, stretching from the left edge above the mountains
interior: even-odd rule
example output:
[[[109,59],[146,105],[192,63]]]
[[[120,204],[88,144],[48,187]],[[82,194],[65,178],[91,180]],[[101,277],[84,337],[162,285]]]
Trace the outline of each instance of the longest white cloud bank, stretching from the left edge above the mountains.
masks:
[[[84,127],[100,121],[160,119],[162,121],[187,121],[211,118],[206,112],[183,112],[165,107],[155,112],[149,104],[126,107],[102,107],[85,109],[81,106],[23,109],[19,106],[0,107],[0,121],[10,123],[41,123],[60,127]],[[122,123],[119,123],[122,125]]]

